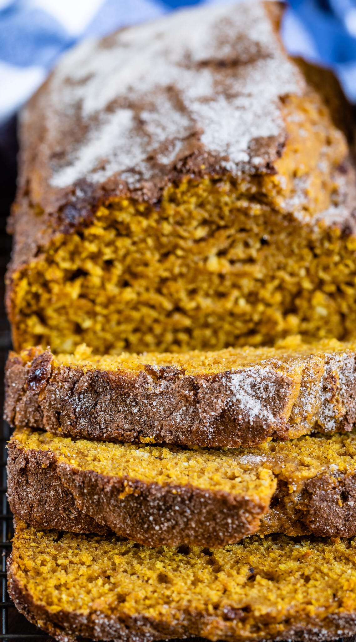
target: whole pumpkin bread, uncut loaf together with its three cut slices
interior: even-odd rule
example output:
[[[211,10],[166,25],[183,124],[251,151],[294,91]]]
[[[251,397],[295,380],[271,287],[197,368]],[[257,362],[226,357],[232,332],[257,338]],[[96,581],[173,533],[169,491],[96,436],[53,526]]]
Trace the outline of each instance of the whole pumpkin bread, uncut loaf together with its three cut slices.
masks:
[[[355,633],[353,135],[281,12],[85,42],[22,114],[8,591],[60,642]]]

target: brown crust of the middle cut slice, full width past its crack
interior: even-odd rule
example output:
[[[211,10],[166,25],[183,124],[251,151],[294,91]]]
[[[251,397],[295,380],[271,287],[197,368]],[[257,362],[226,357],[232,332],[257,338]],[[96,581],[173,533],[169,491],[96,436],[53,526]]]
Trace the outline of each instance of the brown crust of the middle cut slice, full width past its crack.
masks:
[[[356,473],[321,472],[289,493],[286,482],[263,502],[191,485],[145,483],[79,470],[50,449],[8,446],[12,512],[35,528],[115,532],[145,546],[221,548],[260,532],[318,537],[356,535]]]

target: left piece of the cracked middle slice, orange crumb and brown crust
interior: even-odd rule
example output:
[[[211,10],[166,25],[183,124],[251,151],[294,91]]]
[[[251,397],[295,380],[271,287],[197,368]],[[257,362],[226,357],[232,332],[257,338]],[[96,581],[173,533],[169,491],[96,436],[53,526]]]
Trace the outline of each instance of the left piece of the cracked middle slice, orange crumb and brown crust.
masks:
[[[9,444],[8,498],[36,527],[97,532],[97,523],[99,532],[106,526],[149,546],[224,546],[259,528],[277,487],[259,456],[250,465],[240,458],[19,429]]]

